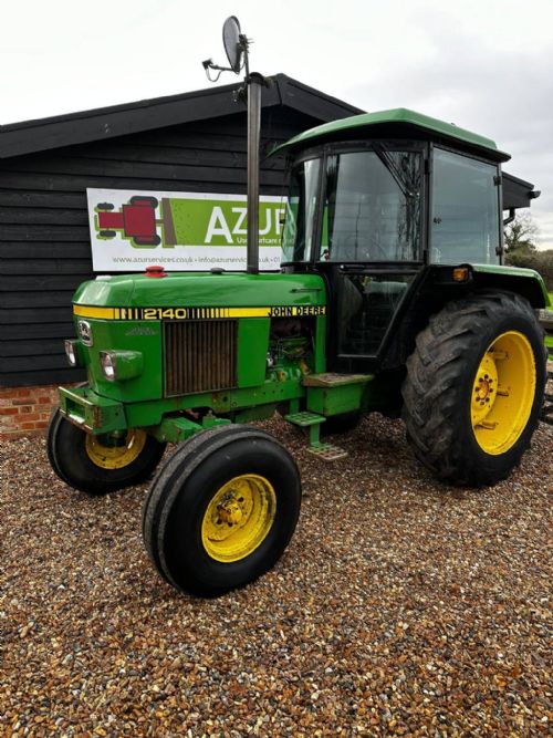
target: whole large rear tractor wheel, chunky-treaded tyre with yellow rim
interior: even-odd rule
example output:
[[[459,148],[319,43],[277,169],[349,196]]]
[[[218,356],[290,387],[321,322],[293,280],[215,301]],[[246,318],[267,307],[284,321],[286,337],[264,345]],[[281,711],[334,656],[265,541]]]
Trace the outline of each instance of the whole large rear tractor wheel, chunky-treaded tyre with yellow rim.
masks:
[[[416,456],[452,485],[504,479],[529,447],[545,386],[543,331],[526,300],[480,292],[417,336],[403,386]]]

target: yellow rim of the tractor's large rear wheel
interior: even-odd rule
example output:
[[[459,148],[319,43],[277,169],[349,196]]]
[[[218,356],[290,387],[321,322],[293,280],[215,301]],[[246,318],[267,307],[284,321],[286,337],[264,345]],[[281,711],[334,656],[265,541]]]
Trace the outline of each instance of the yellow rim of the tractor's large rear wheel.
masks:
[[[497,456],[526,427],[535,396],[535,361],[525,335],[508,331],[488,347],[472,382],[470,414],[478,445]]]

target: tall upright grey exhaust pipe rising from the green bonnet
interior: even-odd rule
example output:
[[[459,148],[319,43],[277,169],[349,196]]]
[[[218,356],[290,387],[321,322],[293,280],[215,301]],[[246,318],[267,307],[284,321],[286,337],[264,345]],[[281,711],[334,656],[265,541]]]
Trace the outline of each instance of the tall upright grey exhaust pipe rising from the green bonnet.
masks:
[[[259,141],[261,129],[261,74],[248,74],[248,250],[249,274],[259,273]]]

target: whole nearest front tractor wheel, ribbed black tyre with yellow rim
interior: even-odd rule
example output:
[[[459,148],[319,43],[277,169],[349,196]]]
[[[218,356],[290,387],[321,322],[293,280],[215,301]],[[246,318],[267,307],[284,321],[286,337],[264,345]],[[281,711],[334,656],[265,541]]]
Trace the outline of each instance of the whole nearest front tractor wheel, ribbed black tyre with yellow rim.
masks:
[[[144,506],[144,543],[167,582],[218,596],[272,569],[300,506],[300,474],[283,446],[246,426],[212,428],[158,472]]]

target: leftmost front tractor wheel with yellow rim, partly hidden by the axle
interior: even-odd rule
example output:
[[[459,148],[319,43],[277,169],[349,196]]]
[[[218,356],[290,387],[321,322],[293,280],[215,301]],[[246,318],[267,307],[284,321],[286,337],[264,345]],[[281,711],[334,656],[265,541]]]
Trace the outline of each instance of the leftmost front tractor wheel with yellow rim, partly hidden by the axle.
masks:
[[[166,444],[134,428],[123,438],[92,436],[52,413],[46,451],[55,474],[87,495],[106,495],[147,479],[159,464]]]

